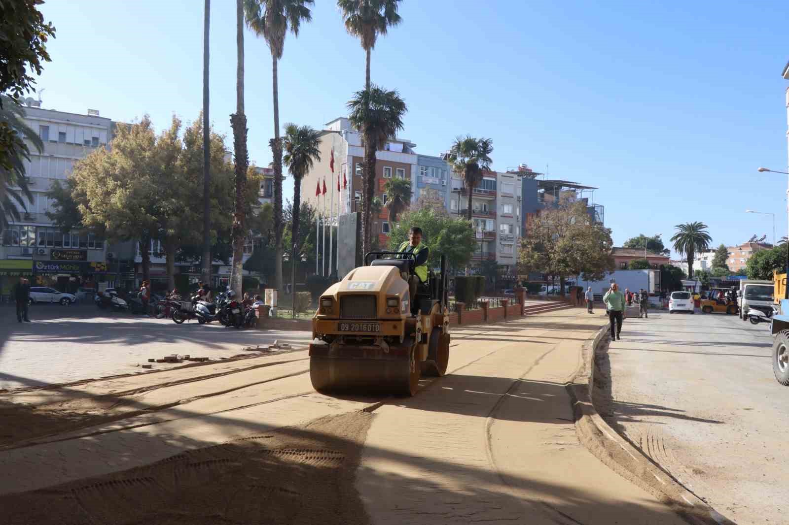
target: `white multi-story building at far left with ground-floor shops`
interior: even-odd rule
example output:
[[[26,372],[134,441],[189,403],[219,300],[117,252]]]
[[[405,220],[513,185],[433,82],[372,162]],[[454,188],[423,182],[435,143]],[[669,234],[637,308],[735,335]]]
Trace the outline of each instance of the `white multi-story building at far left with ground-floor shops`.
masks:
[[[107,248],[99,236],[55,228],[47,217],[52,209],[47,192],[54,181],[69,177],[74,162],[107,146],[113,124],[96,110],[74,114],[45,110],[33,99],[26,102],[24,121],[38,132],[43,151],[28,144],[30,161],[24,168],[33,200],[25,199],[28,210],[2,233],[0,290],[8,293],[22,275],[32,276],[38,285],[73,290],[102,278]]]

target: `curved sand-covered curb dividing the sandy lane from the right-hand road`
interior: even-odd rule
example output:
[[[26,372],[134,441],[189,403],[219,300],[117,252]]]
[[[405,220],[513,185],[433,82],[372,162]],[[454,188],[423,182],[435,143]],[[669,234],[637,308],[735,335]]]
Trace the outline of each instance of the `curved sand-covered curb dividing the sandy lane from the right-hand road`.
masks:
[[[597,331],[581,348],[581,363],[566,388],[573,400],[575,431],[594,456],[628,481],[653,494],[694,525],[736,525],[731,519],[701,501],[660,465],[619,435],[600,417],[593,403],[594,357],[600,342],[608,337],[608,326]]]

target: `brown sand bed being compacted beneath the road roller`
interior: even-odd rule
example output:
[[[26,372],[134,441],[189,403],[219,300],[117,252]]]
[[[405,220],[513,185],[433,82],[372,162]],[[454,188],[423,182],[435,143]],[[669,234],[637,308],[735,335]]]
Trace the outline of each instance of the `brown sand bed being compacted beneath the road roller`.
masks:
[[[575,434],[604,322],[453,330],[409,399],[315,393],[305,352],[10,393],[55,423],[0,450],[2,523],[682,523]]]

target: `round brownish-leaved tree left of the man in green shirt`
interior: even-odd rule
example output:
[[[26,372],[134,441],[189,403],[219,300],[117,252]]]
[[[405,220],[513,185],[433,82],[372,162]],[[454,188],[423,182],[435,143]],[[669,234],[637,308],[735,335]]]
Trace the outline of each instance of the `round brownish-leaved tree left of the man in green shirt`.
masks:
[[[559,277],[564,290],[567,276],[599,281],[613,271],[612,248],[611,229],[593,222],[584,203],[562,199],[559,207],[544,210],[529,224],[519,263],[522,273]]]

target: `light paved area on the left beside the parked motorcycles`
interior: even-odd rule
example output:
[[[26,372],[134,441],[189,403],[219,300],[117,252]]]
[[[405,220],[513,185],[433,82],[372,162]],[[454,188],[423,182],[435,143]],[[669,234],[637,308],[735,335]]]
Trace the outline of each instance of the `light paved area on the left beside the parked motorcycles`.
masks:
[[[18,389],[147,372],[140,364],[169,354],[221,359],[241,348],[274,341],[305,346],[308,331],[236,330],[196,321],[98,311],[92,305],[31,307],[30,323],[17,323],[13,308],[0,308],[0,389]],[[153,370],[178,365],[153,363]]]

